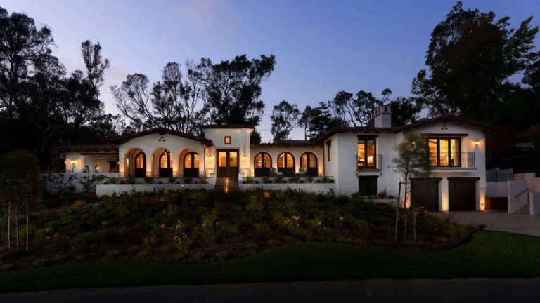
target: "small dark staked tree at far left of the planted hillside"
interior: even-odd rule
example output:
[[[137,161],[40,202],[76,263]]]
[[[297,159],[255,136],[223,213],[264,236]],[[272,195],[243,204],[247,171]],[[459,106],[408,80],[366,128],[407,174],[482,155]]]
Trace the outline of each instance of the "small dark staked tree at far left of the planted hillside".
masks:
[[[11,152],[0,163],[2,206],[8,214],[8,249],[11,250],[11,222],[15,224],[17,250],[19,242],[19,216],[25,209],[26,250],[28,250],[29,210],[35,206],[39,189],[37,159],[29,152]]]

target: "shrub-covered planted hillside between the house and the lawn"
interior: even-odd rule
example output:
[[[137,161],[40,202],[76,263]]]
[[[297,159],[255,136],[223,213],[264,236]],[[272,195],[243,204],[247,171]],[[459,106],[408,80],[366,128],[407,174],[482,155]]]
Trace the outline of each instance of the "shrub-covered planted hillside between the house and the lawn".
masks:
[[[437,250],[463,243],[474,231],[420,212],[417,242],[411,241],[409,216],[408,241],[402,241],[399,222],[396,244],[393,206],[297,191],[180,191],[99,202],[90,206],[79,199],[64,208],[41,210],[30,220],[30,252],[15,252],[12,241],[11,252],[1,253],[1,269],[117,259],[220,262],[301,242]],[[4,222],[5,217],[3,247]]]

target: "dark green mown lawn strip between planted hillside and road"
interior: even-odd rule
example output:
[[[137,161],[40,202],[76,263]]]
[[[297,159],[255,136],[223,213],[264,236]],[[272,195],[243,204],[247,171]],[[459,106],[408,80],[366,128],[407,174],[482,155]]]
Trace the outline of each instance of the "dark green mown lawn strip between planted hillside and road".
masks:
[[[104,286],[307,281],[364,278],[540,276],[540,238],[480,231],[438,252],[303,244],[216,264],[89,262],[0,274],[0,292]]]

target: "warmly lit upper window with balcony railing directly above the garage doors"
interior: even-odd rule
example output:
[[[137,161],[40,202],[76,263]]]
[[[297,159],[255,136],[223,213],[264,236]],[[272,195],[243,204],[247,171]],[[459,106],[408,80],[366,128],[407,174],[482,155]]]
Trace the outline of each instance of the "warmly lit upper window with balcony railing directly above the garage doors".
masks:
[[[460,138],[428,138],[431,166],[461,166]]]

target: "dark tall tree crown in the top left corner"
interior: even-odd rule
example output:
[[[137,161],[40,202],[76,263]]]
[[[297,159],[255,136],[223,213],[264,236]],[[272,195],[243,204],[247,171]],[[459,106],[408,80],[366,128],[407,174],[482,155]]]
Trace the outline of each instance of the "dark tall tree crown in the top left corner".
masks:
[[[29,76],[34,61],[48,55],[53,43],[49,27],[36,27],[24,13],[8,14],[0,7],[0,109],[11,120],[20,98],[20,81]]]

